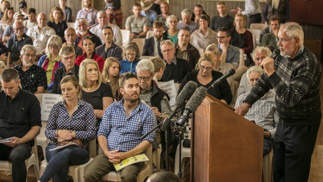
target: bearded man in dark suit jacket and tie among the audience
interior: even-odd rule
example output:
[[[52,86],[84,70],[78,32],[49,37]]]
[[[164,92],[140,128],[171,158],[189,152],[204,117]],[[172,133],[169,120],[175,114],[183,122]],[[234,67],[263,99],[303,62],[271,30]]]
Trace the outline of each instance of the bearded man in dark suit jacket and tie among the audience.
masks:
[[[143,48],[143,56],[159,56],[162,59],[161,54],[161,41],[168,39],[163,34],[163,24],[161,21],[155,21],[153,24],[154,36],[145,40]]]

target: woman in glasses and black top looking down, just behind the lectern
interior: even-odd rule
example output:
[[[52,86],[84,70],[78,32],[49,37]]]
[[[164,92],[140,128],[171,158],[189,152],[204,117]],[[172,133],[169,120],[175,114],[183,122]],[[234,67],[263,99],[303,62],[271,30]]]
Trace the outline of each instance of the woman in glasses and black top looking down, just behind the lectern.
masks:
[[[204,53],[198,61],[196,71],[188,73],[185,76],[178,92],[180,92],[189,81],[196,82],[198,87],[203,86],[209,88],[216,80],[223,76],[222,73],[214,71],[214,67],[214,56],[210,53]],[[231,103],[232,93],[227,80],[224,80],[220,85],[210,88],[208,93],[226,104]]]

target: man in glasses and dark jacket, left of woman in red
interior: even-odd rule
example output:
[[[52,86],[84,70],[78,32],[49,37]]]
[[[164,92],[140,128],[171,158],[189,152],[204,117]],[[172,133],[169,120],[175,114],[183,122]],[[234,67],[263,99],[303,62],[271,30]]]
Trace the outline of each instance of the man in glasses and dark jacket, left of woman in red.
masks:
[[[60,88],[61,80],[67,75],[73,75],[79,78],[79,66],[75,64],[75,50],[72,46],[63,46],[58,54],[64,66],[57,69],[55,73],[51,93],[62,94]]]

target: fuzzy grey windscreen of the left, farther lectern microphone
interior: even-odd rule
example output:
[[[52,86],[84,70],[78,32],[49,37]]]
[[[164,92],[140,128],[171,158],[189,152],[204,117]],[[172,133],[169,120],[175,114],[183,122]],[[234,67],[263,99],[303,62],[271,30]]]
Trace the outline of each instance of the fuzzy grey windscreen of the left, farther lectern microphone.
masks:
[[[184,107],[185,100],[188,100],[192,96],[196,88],[197,88],[197,83],[193,81],[187,82],[186,85],[183,87],[182,91],[178,93],[175,100],[175,106]]]

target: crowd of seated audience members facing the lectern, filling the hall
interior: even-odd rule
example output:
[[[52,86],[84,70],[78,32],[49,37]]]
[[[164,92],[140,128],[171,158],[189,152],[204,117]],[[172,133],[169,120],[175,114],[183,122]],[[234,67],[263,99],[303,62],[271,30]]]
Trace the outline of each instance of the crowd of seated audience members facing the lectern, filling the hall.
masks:
[[[19,143],[28,144],[21,147],[26,153],[30,153],[31,140],[40,127],[39,103],[33,94],[49,92],[64,97],[64,101],[53,106],[48,118],[45,135],[50,144],[44,154],[48,165],[40,182],[67,179],[70,165],[89,160],[88,144],[95,138],[102,153],[85,172],[88,182],[100,181],[113,171],[113,163],[151,146],[155,150],[161,144],[164,151],[165,132],[161,130],[139,140],[172,112],[169,97],[159,88],[159,83],[174,81],[179,85],[177,93],[189,81],[208,88],[230,69],[235,69],[236,75],[208,93],[225,104],[239,107],[264,73],[260,67],[262,60],[279,44],[279,16],[270,16],[269,26],[261,31],[261,46],[257,46],[245,26],[245,17],[238,12],[233,18],[221,1],[216,3],[217,15],[210,18],[200,4],[183,9],[181,17],[176,17],[167,2],[141,0],[131,4],[133,15],[126,17],[125,24],[122,24],[120,0],[104,0],[105,9],[99,11],[91,6],[91,0],[82,0],[84,8],[76,13],[76,19],[67,0],[58,0],[59,6],[53,7],[48,15],[43,9],[27,8],[22,1],[15,13],[9,1],[0,0],[0,66],[1,69],[9,67],[1,73],[0,81],[2,87],[12,84],[16,91],[2,91],[0,99],[5,101],[9,99],[5,95],[13,95],[20,100],[21,95],[32,102],[30,107],[34,110],[28,110],[30,113],[26,110],[24,115],[28,116],[30,127],[27,130],[19,126],[24,129],[24,135],[12,133],[13,137],[27,136]],[[68,28],[67,22],[75,22],[75,27]],[[131,39],[145,38],[143,48],[135,42],[123,45],[122,27],[130,30]],[[146,38],[149,30],[154,34]],[[274,97],[275,91],[270,90],[256,102],[268,113],[264,116],[267,120],[254,118],[252,113],[259,113],[260,117],[264,114],[256,107],[245,116],[265,130],[264,155],[272,149],[278,122]],[[17,104],[25,102],[20,100]],[[127,125],[122,123],[124,120]],[[81,148],[49,150],[72,139],[80,140]],[[16,152],[2,144],[0,148],[8,153]],[[12,168],[12,174],[25,170],[20,163]],[[142,168],[143,163],[125,168],[120,174],[122,180],[136,179]],[[21,178],[24,176],[13,181]]]

